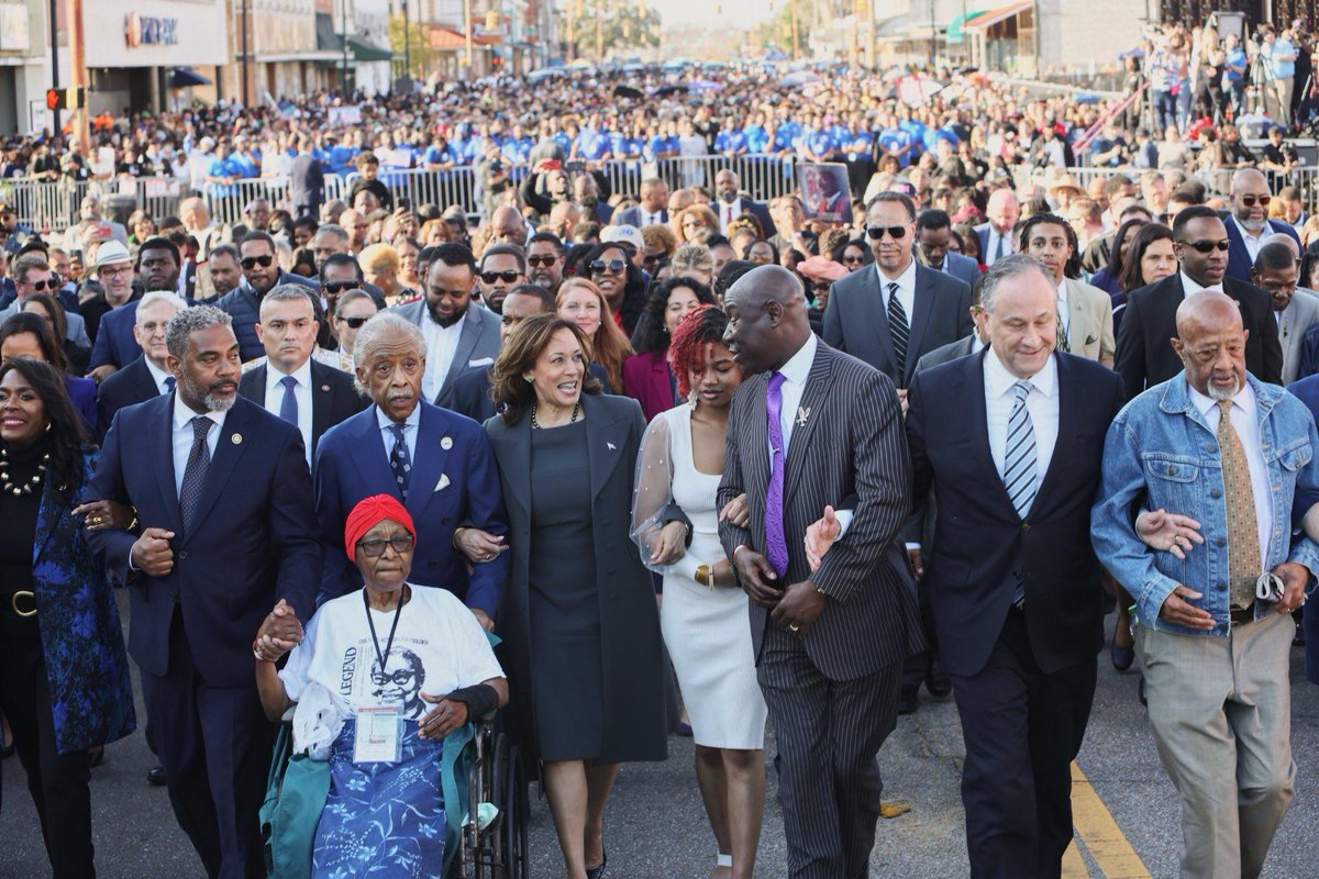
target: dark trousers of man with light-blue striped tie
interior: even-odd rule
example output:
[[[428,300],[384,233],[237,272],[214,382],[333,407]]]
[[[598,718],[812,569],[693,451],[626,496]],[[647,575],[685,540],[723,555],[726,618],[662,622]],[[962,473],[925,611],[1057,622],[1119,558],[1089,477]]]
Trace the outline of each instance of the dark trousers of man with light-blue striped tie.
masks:
[[[1071,762],[1095,698],[1097,660],[1046,675],[1026,619],[1009,610],[989,662],[952,677],[967,760],[962,803],[973,879],[1057,879],[1072,839]]]

